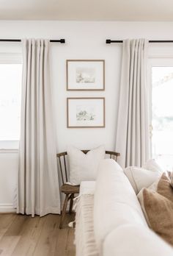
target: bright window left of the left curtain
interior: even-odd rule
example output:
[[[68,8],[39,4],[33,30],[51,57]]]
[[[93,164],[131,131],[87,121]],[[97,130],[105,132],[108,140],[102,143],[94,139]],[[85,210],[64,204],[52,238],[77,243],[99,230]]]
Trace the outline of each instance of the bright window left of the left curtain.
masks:
[[[0,54],[0,148],[16,149],[21,126],[21,54]]]

